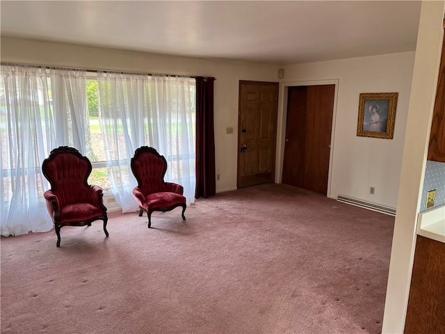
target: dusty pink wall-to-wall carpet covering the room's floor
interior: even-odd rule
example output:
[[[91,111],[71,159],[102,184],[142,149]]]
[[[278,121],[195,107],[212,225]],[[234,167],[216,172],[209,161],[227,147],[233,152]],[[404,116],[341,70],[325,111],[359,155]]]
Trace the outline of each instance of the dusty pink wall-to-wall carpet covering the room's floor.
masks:
[[[1,237],[1,333],[381,333],[394,217],[264,184]]]

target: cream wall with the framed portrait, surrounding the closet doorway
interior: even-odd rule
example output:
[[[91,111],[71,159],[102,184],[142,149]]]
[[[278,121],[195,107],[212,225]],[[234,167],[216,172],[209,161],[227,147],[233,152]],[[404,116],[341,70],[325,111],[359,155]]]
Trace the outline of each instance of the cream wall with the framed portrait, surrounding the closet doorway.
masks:
[[[329,197],[341,194],[396,207],[414,55],[412,51],[284,67],[280,88],[338,81]],[[398,93],[394,138],[357,136],[359,94],[392,92]],[[286,99],[282,99],[279,123],[286,119]],[[278,134],[282,148],[278,150],[277,170],[282,169],[285,130]],[[374,195],[369,193],[370,186],[375,187]]]

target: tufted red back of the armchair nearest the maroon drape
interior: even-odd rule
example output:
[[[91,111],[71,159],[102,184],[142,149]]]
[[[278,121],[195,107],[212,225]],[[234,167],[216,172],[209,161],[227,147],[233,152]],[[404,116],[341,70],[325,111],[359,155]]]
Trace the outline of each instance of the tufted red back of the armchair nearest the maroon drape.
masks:
[[[138,181],[138,188],[145,196],[165,191],[167,161],[154,148],[138,148],[131,159],[131,170]]]

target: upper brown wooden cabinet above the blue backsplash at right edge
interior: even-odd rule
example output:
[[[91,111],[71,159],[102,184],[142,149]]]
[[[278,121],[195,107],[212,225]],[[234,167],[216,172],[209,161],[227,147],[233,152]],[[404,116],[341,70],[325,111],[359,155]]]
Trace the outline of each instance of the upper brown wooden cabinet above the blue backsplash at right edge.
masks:
[[[428,160],[445,162],[445,35],[442,44],[436,100],[432,113]]]

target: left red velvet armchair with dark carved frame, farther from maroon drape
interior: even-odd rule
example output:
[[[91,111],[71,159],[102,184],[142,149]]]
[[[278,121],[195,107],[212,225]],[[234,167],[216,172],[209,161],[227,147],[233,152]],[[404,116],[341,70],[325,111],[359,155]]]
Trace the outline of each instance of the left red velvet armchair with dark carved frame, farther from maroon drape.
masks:
[[[60,228],[67,225],[90,226],[92,221],[101,219],[108,237],[102,188],[87,183],[91,170],[90,160],[67,146],[52,150],[43,161],[42,173],[51,184],[51,189],[44,192],[44,198],[56,229],[57,247],[60,247]]]

